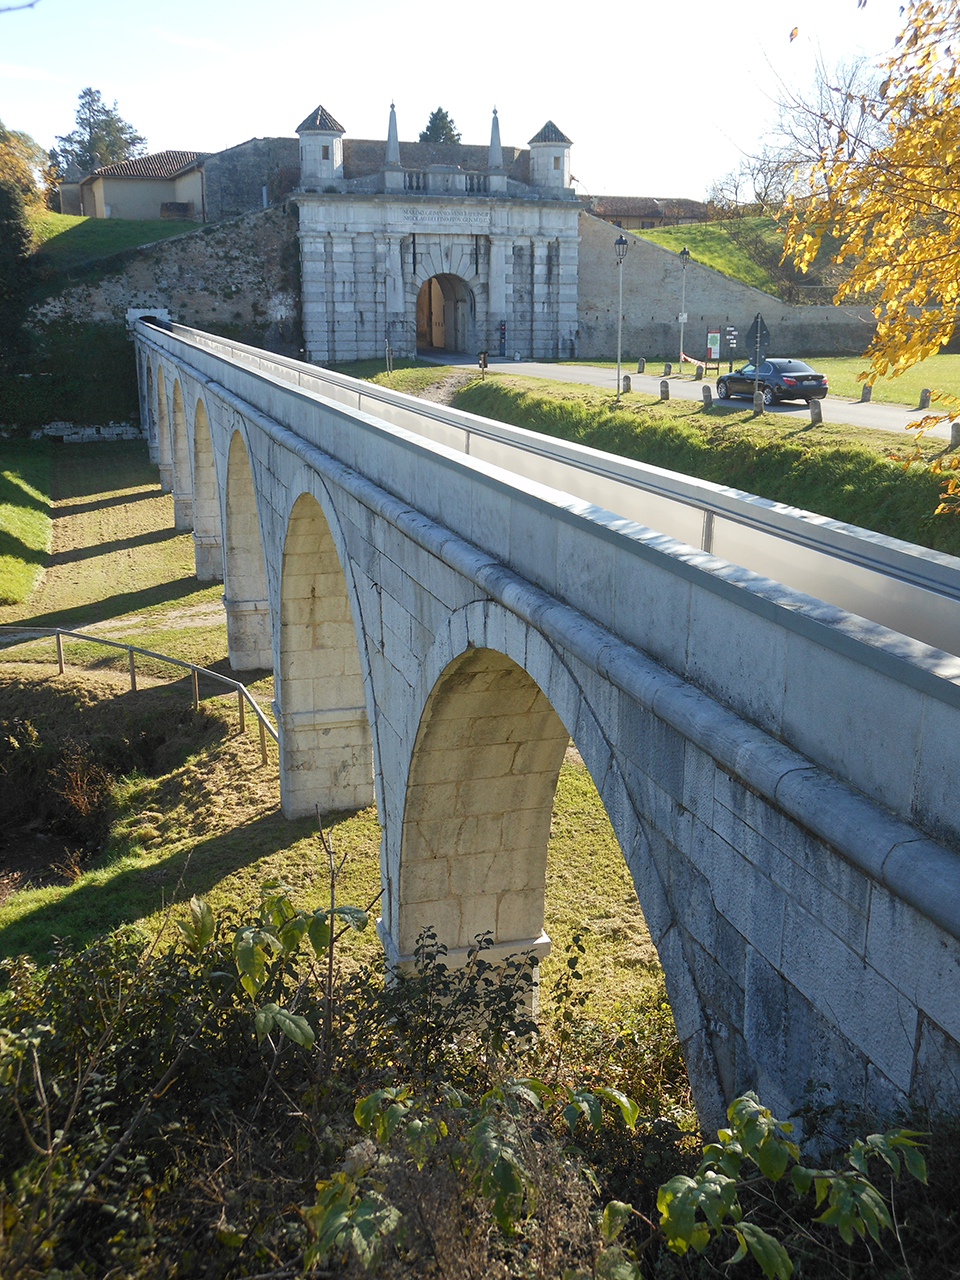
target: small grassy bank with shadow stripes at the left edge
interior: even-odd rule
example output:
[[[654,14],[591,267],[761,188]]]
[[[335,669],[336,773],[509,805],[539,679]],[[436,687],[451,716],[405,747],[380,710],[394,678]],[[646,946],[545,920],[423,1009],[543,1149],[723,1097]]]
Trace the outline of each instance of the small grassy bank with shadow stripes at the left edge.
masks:
[[[50,552],[51,444],[5,440],[0,462],[0,605],[33,589]]]

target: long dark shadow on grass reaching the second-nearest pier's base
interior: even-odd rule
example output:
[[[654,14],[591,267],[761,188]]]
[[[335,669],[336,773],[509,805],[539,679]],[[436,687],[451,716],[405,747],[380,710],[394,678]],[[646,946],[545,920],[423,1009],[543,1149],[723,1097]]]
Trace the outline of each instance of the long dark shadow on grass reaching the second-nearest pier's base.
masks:
[[[0,957],[28,954],[46,960],[58,938],[86,946],[93,938],[170,904],[209,893],[232,872],[269,858],[316,829],[312,818],[288,819],[279,810],[243,823],[189,850],[180,850],[143,867],[125,867],[104,879],[93,868],[73,888],[58,893],[19,919],[0,928]],[[109,865],[106,868],[109,872]],[[180,913],[182,914],[182,913]]]

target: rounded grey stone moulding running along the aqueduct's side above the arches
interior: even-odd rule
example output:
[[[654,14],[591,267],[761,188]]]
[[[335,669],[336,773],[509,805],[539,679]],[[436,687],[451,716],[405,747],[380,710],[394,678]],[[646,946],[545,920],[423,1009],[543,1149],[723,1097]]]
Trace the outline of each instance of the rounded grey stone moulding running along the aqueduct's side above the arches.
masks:
[[[557,641],[753,791],[829,844],[847,861],[960,938],[957,854],[741,719],[572,605],[534,586],[495,557],[268,417],[206,374],[196,369],[191,372],[225,404],[256,422],[274,443]],[[371,425],[378,424],[371,420]],[[462,465],[467,462],[461,460]]]

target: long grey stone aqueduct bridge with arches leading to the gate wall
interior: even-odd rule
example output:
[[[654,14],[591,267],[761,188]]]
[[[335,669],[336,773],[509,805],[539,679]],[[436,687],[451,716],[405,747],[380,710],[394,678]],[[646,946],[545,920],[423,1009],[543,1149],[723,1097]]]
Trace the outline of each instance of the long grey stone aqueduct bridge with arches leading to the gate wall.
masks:
[[[960,1105],[960,562],[195,330],[137,355],[284,812],[376,800],[389,957],[547,950],[572,737],[704,1119]]]

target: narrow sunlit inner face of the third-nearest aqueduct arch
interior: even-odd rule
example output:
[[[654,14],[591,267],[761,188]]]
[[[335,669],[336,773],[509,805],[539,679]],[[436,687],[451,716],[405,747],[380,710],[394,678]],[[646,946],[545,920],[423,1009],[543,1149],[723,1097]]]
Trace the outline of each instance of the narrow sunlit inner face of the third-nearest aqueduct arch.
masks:
[[[227,652],[234,671],[273,666],[266,566],[253,477],[243,435],[234,430],[227,458],[224,506]]]

